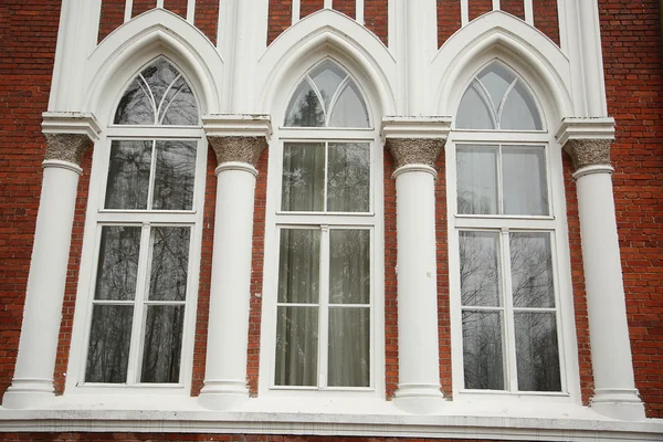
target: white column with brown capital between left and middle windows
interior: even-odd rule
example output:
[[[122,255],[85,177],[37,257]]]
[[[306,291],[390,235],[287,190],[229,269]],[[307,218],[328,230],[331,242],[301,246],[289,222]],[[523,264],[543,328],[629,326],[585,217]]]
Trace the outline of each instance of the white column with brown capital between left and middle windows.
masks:
[[[208,136],[217,154],[217,210],[204,386],[199,402],[223,410],[249,399],[246,352],[255,165],[265,137]]]

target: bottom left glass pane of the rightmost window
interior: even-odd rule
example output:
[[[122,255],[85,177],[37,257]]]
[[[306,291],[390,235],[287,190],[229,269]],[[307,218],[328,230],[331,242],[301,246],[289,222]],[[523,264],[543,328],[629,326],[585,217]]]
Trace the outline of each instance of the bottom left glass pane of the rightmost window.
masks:
[[[463,312],[465,388],[504,390],[502,314]]]

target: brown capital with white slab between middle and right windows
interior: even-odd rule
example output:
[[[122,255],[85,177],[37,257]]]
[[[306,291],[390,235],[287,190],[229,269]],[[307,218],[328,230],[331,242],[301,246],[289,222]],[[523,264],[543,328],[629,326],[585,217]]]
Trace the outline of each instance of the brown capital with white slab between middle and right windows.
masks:
[[[408,165],[433,167],[450,127],[451,117],[385,117],[381,134],[397,169]]]

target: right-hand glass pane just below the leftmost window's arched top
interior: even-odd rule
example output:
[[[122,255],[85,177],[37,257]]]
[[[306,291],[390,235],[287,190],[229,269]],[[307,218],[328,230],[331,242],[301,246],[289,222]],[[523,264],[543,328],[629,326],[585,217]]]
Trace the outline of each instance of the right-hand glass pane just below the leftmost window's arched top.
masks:
[[[196,141],[157,141],[152,209],[191,210],[196,185]]]

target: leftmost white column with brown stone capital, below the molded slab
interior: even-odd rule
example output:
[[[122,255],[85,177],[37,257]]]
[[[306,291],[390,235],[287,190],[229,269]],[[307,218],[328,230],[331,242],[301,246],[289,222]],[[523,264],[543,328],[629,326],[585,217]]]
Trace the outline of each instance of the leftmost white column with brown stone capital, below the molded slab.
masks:
[[[35,407],[54,397],[53,371],[62,318],[81,157],[85,134],[45,134],[42,193],[28,276],[21,339],[4,408]]]

